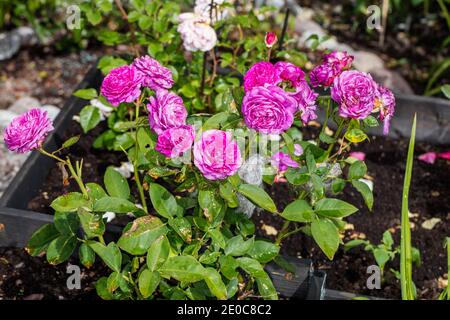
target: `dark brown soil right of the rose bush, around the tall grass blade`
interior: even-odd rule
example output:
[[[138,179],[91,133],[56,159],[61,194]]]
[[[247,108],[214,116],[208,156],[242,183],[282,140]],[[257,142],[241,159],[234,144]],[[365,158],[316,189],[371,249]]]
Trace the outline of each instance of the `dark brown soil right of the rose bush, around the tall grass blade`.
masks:
[[[354,230],[347,230],[344,242],[354,238],[370,240],[374,244],[381,241],[384,231],[393,233],[395,245],[400,244],[400,219],[403,175],[406,163],[407,140],[392,141],[383,137],[372,137],[371,143],[363,143],[358,151],[366,153],[368,174],[374,181],[374,208],[369,212],[362,197],[351,187],[341,196],[360,210],[347,218]],[[449,150],[449,147],[433,147],[417,143],[415,154],[427,151]],[[414,162],[413,179],[410,190],[410,212],[418,214],[411,218],[412,244],[421,252],[422,265],[413,268],[413,279],[417,286],[418,297],[435,299],[442,291],[447,279],[447,255],[443,248],[445,237],[450,234],[450,162],[438,160],[434,165],[420,161]],[[292,197],[287,185],[278,184],[272,190],[272,197],[283,208]],[[440,218],[432,230],[424,229],[421,224],[430,218]],[[277,217],[261,213],[254,216],[257,226],[262,224],[281,228],[282,221]],[[267,237],[261,228],[260,235]],[[274,237],[272,237],[273,239]],[[354,292],[365,295],[400,299],[400,283],[389,272],[390,268],[399,270],[398,258],[385,267],[386,277],[381,290],[368,290],[366,280],[367,267],[374,265],[371,253],[363,248],[355,248],[344,253],[340,249],[334,261],[329,261],[314,241],[304,234],[296,234],[286,239],[282,252],[313,259],[317,268],[327,272],[327,287],[335,290]]]

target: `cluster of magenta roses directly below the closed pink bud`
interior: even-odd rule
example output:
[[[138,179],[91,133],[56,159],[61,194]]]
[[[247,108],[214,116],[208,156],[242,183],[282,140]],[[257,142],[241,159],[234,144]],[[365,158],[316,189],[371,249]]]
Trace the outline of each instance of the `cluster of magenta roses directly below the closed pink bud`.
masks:
[[[246,125],[265,134],[292,126],[297,112],[304,123],[316,119],[316,98],[305,73],[289,62],[258,62],[244,76],[242,114]]]

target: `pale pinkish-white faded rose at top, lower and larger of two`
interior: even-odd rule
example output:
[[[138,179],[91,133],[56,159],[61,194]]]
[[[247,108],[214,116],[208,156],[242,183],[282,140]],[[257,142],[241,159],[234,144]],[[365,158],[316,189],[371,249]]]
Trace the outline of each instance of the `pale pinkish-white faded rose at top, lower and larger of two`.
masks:
[[[178,32],[183,46],[188,51],[209,51],[217,43],[216,31],[209,25],[209,19],[194,13],[179,15]]]

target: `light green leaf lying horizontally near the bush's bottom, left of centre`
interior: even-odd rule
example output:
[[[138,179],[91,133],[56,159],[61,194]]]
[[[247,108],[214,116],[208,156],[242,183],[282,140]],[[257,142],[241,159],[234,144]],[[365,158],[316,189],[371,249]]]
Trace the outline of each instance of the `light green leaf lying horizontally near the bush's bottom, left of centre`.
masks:
[[[159,272],[164,278],[174,278],[188,283],[203,280],[205,276],[205,268],[192,256],[170,257]]]

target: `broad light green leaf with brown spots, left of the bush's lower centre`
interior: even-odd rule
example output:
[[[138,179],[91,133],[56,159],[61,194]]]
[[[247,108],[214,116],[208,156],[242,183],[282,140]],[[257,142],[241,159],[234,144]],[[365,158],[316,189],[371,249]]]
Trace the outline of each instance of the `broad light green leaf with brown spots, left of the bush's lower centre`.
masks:
[[[167,227],[154,216],[143,216],[133,221],[131,227],[117,241],[120,249],[133,254],[142,255],[152,243],[167,233]]]

